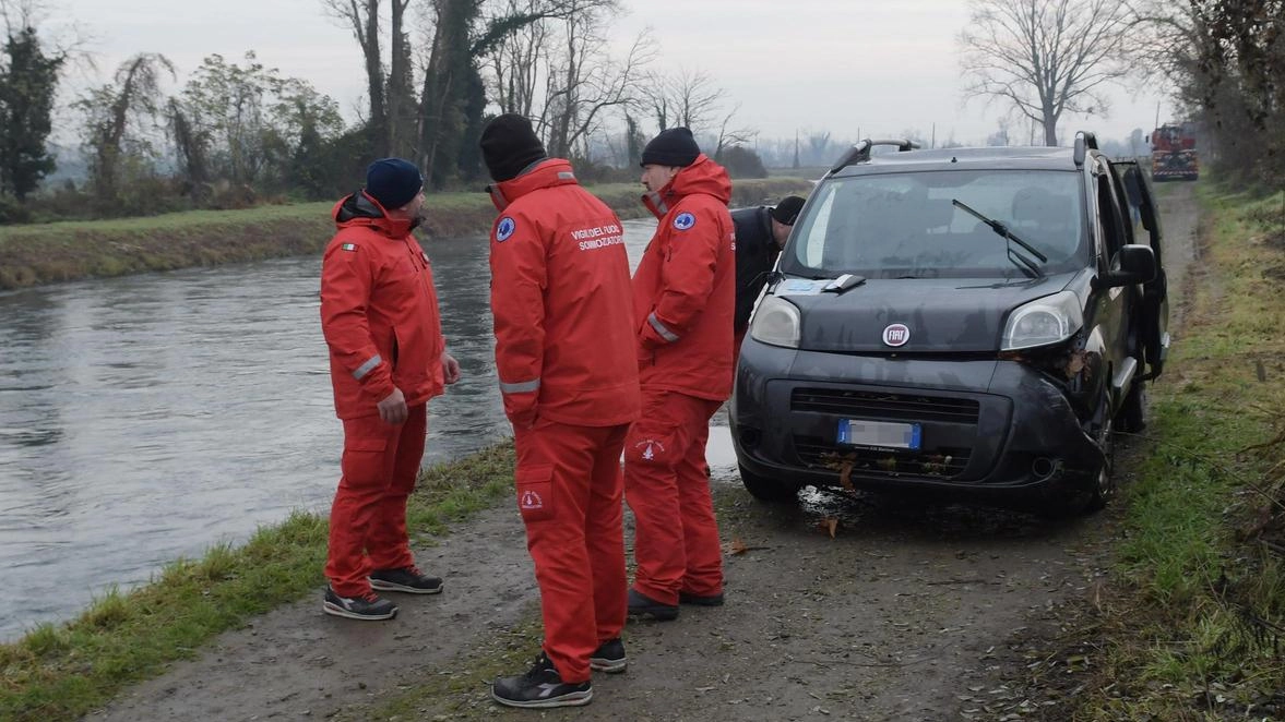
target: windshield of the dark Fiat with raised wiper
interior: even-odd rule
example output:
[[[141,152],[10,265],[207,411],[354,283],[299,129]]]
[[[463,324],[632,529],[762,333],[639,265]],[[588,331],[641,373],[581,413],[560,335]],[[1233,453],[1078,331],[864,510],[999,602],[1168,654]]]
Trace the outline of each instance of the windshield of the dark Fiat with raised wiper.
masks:
[[[869,279],[1018,277],[1010,243],[960,209],[998,221],[1046,256],[1043,274],[1083,266],[1079,175],[1065,171],[938,171],[834,179],[790,236],[781,271]],[[1014,245],[1020,253],[1022,248]]]

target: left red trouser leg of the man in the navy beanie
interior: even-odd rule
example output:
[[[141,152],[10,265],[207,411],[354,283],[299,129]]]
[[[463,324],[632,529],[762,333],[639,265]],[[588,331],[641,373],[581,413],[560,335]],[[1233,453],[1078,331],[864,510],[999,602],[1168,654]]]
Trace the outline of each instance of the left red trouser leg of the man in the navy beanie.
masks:
[[[343,421],[343,474],[330,506],[325,565],[325,576],[339,596],[370,591],[366,538],[388,491],[400,432],[378,415]]]

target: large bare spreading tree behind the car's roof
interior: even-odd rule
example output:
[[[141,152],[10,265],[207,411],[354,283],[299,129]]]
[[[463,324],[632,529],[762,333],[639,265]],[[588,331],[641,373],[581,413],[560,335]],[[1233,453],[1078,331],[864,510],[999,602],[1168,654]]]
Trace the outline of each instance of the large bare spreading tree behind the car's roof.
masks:
[[[959,36],[970,95],[1011,105],[1058,145],[1063,113],[1105,113],[1121,81],[1130,13],[1119,0],[971,0]]]

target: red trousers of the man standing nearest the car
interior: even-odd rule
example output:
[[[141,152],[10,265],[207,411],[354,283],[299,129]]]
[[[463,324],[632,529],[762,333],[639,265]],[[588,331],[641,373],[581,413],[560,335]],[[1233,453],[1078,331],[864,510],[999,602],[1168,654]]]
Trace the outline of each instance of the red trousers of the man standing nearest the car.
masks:
[[[722,549],[705,442],[722,406],[642,388],[642,416],[625,441],[625,497],[634,510],[634,588],[662,604],[678,592],[722,594]]]

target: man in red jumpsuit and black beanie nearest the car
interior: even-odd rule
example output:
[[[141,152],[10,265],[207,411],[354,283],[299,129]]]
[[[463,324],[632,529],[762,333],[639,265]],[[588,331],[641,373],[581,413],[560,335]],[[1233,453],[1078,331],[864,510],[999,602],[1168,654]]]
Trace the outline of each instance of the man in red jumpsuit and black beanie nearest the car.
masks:
[[[731,180],[690,130],[648,143],[642,185],[660,222],[634,275],[642,415],[625,441],[637,561],[628,612],[668,621],[680,603],[723,601],[705,441],[709,418],[731,393],[736,244]]]

